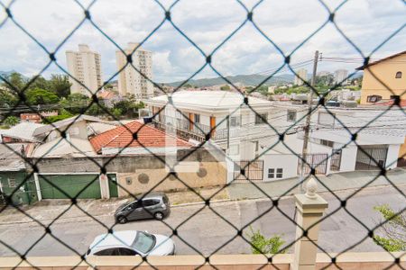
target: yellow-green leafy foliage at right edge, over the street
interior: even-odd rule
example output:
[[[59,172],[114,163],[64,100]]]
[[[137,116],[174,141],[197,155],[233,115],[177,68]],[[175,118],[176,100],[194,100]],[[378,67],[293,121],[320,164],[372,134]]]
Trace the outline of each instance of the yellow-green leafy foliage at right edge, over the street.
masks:
[[[375,243],[389,252],[406,251],[406,211],[395,212],[387,204],[375,206],[374,210],[386,221],[378,229],[381,236],[374,236]]]

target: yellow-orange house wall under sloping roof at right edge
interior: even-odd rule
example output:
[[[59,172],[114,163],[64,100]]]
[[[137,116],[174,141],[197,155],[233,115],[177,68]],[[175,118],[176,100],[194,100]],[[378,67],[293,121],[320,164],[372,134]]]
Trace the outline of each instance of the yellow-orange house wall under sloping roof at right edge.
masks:
[[[357,69],[364,70],[361,104],[406,99],[406,50]]]

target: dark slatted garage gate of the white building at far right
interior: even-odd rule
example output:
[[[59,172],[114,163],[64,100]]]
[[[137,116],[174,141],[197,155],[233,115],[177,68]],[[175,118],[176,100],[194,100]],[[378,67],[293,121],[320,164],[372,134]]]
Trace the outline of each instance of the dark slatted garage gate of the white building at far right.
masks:
[[[379,170],[386,165],[388,146],[358,146],[355,170]]]

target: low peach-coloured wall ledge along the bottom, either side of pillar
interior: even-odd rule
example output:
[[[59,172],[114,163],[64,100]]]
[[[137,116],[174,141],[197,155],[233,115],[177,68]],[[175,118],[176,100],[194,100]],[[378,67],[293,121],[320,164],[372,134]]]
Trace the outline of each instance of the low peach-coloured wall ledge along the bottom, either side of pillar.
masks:
[[[316,257],[316,269],[350,269],[350,270],[378,270],[378,269],[401,269],[406,267],[406,257],[401,252],[393,254],[387,252],[371,253],[344,253],[337,257],[336,266],[331,265],[331,257],[337,254],[318,253]],[[399,266],[393,266],[393,257],[400,257]],[[281,269],[288,270],[291,266],[291,254],[278,254],[272,256],[272,263],[268,262],[263,255],[213,255],[209,258],[209,265],[205,258],[198,255],[148,257],[148,263],[143,262],[141,257],[88,257],[83,261],[80,257],[28,257],[27,261],[20,257],[0,257],[0,269],[11,269],[18,266],[18,269],[71,269],[87,270],[89,266],[97,266],[97,269],[130,270],[137,266],[137,269],[152,269],[152,266],[159,269]],[[333,267],[333,268],[332,268]]]

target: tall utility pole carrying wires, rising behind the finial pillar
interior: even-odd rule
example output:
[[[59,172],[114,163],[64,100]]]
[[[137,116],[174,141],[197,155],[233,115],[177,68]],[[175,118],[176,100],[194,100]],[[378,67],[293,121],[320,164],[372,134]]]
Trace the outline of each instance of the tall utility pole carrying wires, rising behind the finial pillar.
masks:
[[[318,71],[318,50],[314,53],[314,62],[313,62],[313,74],[311,76],[310,85],[314,87],[316,85],[316,73]],[[303,160],[307,160],[308,155],[308,144],[309,144],[309,132],[310,132],[310,124],[311,124],[311,103],[313,101],[313,89],[310,88],[310,94],[308,98],[308,115],[306,116],[306,123],[303,127],[304,136],[303,136],[303,148],[301,150],[301,158]],[[305,169],[305,162],[300,160],[300,178],[299,178],[299,186],[300,186],[300,193],[304,193],[303,190],[303,180],[304,180],[304,169]]]

